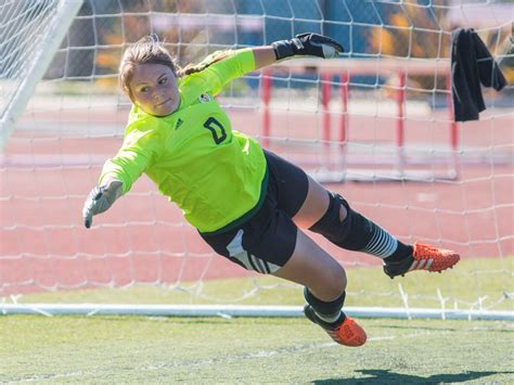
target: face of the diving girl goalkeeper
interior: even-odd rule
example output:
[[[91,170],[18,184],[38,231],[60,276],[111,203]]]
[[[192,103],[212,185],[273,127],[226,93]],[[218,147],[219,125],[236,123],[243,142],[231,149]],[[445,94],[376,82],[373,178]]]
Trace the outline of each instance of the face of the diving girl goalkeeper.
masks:
[[[133,102],[150,115],[169,115],[180,104],[177,77],[166,65],[140,64],[136,66],[129,87]]]

